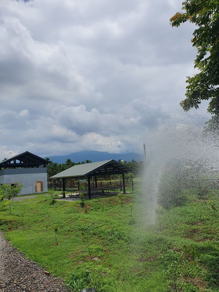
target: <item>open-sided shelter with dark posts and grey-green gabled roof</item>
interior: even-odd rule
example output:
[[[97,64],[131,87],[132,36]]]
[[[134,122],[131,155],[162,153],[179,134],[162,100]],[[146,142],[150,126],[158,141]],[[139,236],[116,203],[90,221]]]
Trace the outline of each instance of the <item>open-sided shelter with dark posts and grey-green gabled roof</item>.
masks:
[[[97,188],[97,176],[108,176],[113,174],[122,174],[123,179],[123,192],[125,193],[125,178],[124,173],[130,172],[130,168],[123,163],[116,160],[105,160],[99,162],[92,162],[87,164],[79,164],[70,167],[56,175],[50,177],[50,179],[62,179],[63,184],[63,196],[65,196],[65,179],[66,178],[82,178],[87,177],[88,181],[88,197],[91,198],[91,185],[90,178],[95,177],[95,188]]]

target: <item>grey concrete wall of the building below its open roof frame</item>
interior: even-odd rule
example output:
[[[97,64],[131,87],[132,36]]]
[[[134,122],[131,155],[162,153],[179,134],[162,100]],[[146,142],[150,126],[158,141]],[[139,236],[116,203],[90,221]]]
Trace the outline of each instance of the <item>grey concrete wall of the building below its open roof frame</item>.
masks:
[[[32,170],[32,172],[31,172]],[[40,171],[41,170],[41,171]],[[22,168],[22,169],[2,169],[0,170],[0,184],[15,183],[22,184],[21,193],[19,195],[29,195],[35,192],[35,182],[43,182],[43,192],[47,192],[47,170],[40,168]]]

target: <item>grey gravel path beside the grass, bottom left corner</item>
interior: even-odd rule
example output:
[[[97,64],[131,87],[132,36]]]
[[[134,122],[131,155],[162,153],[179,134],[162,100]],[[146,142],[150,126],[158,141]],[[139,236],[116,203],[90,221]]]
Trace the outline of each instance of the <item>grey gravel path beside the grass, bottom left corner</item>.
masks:
[[[23,257],[0,231],[0,292],[67,292],[62,280]]]

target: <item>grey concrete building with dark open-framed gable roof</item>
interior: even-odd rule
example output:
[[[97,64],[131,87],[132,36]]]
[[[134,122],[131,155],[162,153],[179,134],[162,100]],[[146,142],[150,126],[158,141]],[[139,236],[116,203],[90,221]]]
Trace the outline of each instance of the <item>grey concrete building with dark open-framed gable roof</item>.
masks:
[[[20,195],[47,192],[48,161],[28,151],[0,162],[0,186],[2,183],[22,184]]]

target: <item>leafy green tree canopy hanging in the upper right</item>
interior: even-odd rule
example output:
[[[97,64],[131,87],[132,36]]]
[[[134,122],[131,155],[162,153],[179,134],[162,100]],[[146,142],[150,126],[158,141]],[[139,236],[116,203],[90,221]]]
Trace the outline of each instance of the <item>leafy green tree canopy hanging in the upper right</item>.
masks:
[[[219,1],[186,0],[182,11],[170,23],[176,27],[186,21],[196,24],[191,42],[197,48],[194,68],[199,72],[187,77],[186,99],[180,105],[188,111],[197,109],[202,100],[210,100],[208,112],[219,116]]]

